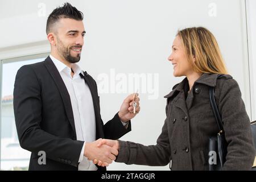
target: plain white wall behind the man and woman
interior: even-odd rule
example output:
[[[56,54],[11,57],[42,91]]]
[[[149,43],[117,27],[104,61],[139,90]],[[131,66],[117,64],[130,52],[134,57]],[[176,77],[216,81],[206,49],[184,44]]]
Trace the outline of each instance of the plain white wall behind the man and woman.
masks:
[[[39,3],[46,5],[44,9]],[[65,1],[3,1],[0,0],[0,56],[11,46],[46,40],[47,16]],[[144,76],[158,74],[156,82],[158,98],[148,100],[150,92],[141,93],[141,113],[132,121],[132,131],[122,137],[143,144],[155,144],[165,119],[166,100],[172,86],[182,80],[172,76],[172,65],[167,61],[172,41],[180,28],[204,26],[216,36],[224,55],[230,75],[240,84],[242,97],[250,115],[250,95],[247,65],[245,6],[240,0],[102,0],[69,1],[85,15],[85,46],[80,61],[81,67],[97,79],[110,69],[115,75],[128,78],[129,73]],[[11,10],[13,11],[10,11]],[[214,11],[216,10],[216,11]],[[10,13],[11,12],[11,13]],[[39,16],[39,15],[40,16]],[[4,25],[4,26],[2,26]],[[10,48],[4,48],[9,47]],[[2,49],[1,49],[2,48]],[[23,46],[15,49],[24,48]],[[29,52],[29,49],[26,51]],[[45,51],[45,48],[44,48]],[[23,52],[24,53],[24,52]],[[1,59],[1,57],[0,57]],[[157,78],[157,77],[156,77]],[[114,79],[110,78],[110,82]],[[147,81],[150,81],[147,79]],[[150,85],[144,84],[143,86]],[[115,84],[118,80],[115,80]],[[135,91],[136,88],[133,90]],[[142,90],[142,88],[140,89]],[[118,111],[125,93],[100,93],[101,116],[111,119]],[[127,166],[114,163],[109,170],[168,170],[168,167]]]

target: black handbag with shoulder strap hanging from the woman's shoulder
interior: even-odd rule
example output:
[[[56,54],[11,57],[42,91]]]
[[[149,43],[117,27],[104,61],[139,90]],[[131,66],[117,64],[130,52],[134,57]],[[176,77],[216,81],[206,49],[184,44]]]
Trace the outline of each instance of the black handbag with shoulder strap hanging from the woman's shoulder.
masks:
[[[214,137],[209,138],[209,154],[213,154],[213,158],[209,158],[209,171],[221,171],[226,161],[227,142],[224,135],[224,127],[221,120],[220,112],[214,98],[214,87],[209,89],[210,105],[212,106],[213,114],[218,126],[218,133]],[[214,159],[212,162],[210,160]]]

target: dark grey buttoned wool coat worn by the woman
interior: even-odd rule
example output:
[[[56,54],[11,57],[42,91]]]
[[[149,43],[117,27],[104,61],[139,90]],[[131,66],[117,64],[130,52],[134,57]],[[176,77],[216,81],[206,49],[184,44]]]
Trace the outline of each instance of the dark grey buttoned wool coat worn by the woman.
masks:
[[[184,78],[169,93],[166,120],[156,145],[144,146],[119,140],[115,162],[166,166],[171,170],[208,170],[209,137],[218,133],[209,99],[209,86],[214,86],[216,103],[224,123],[228,154],[224,170],[249,170],[255,149],[237,81],[230,75],[217,79],[217,74],[203,73],[185,98]]]

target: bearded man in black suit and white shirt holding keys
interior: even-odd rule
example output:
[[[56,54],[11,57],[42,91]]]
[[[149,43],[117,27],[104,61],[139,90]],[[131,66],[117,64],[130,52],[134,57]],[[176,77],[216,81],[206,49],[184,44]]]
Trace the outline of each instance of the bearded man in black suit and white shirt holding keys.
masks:
[[[31,151],[30,170],[105,170],[118,151],[98,146],[101,138],[118,139],[131,130],[135,94],[128,96],[105,125],[100,115],[97,84],[76,63],[84,44],[81,11],[69,3],[47,19],[51,55],[43,62],[24,65],[14,85],[14,114],[20,146]],[[46,154],[46,163],[39,157]]]

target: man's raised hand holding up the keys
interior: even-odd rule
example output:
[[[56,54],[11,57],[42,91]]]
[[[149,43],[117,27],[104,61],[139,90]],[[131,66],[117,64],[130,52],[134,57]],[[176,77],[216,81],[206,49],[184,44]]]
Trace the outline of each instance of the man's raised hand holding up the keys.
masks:
[[[138,96],[138,95],[137,95]],[[130,94],[126,99],[123,101],[123,104],[120,107],[118,116],[122,122],[130,121],[132,118],[135,117],[136,114],[139,113],[141,107],[139,106],[139,97],[136,97],[135,101],[135,93]],[[136,102],[136,113],[133,113],[133,103]]]

